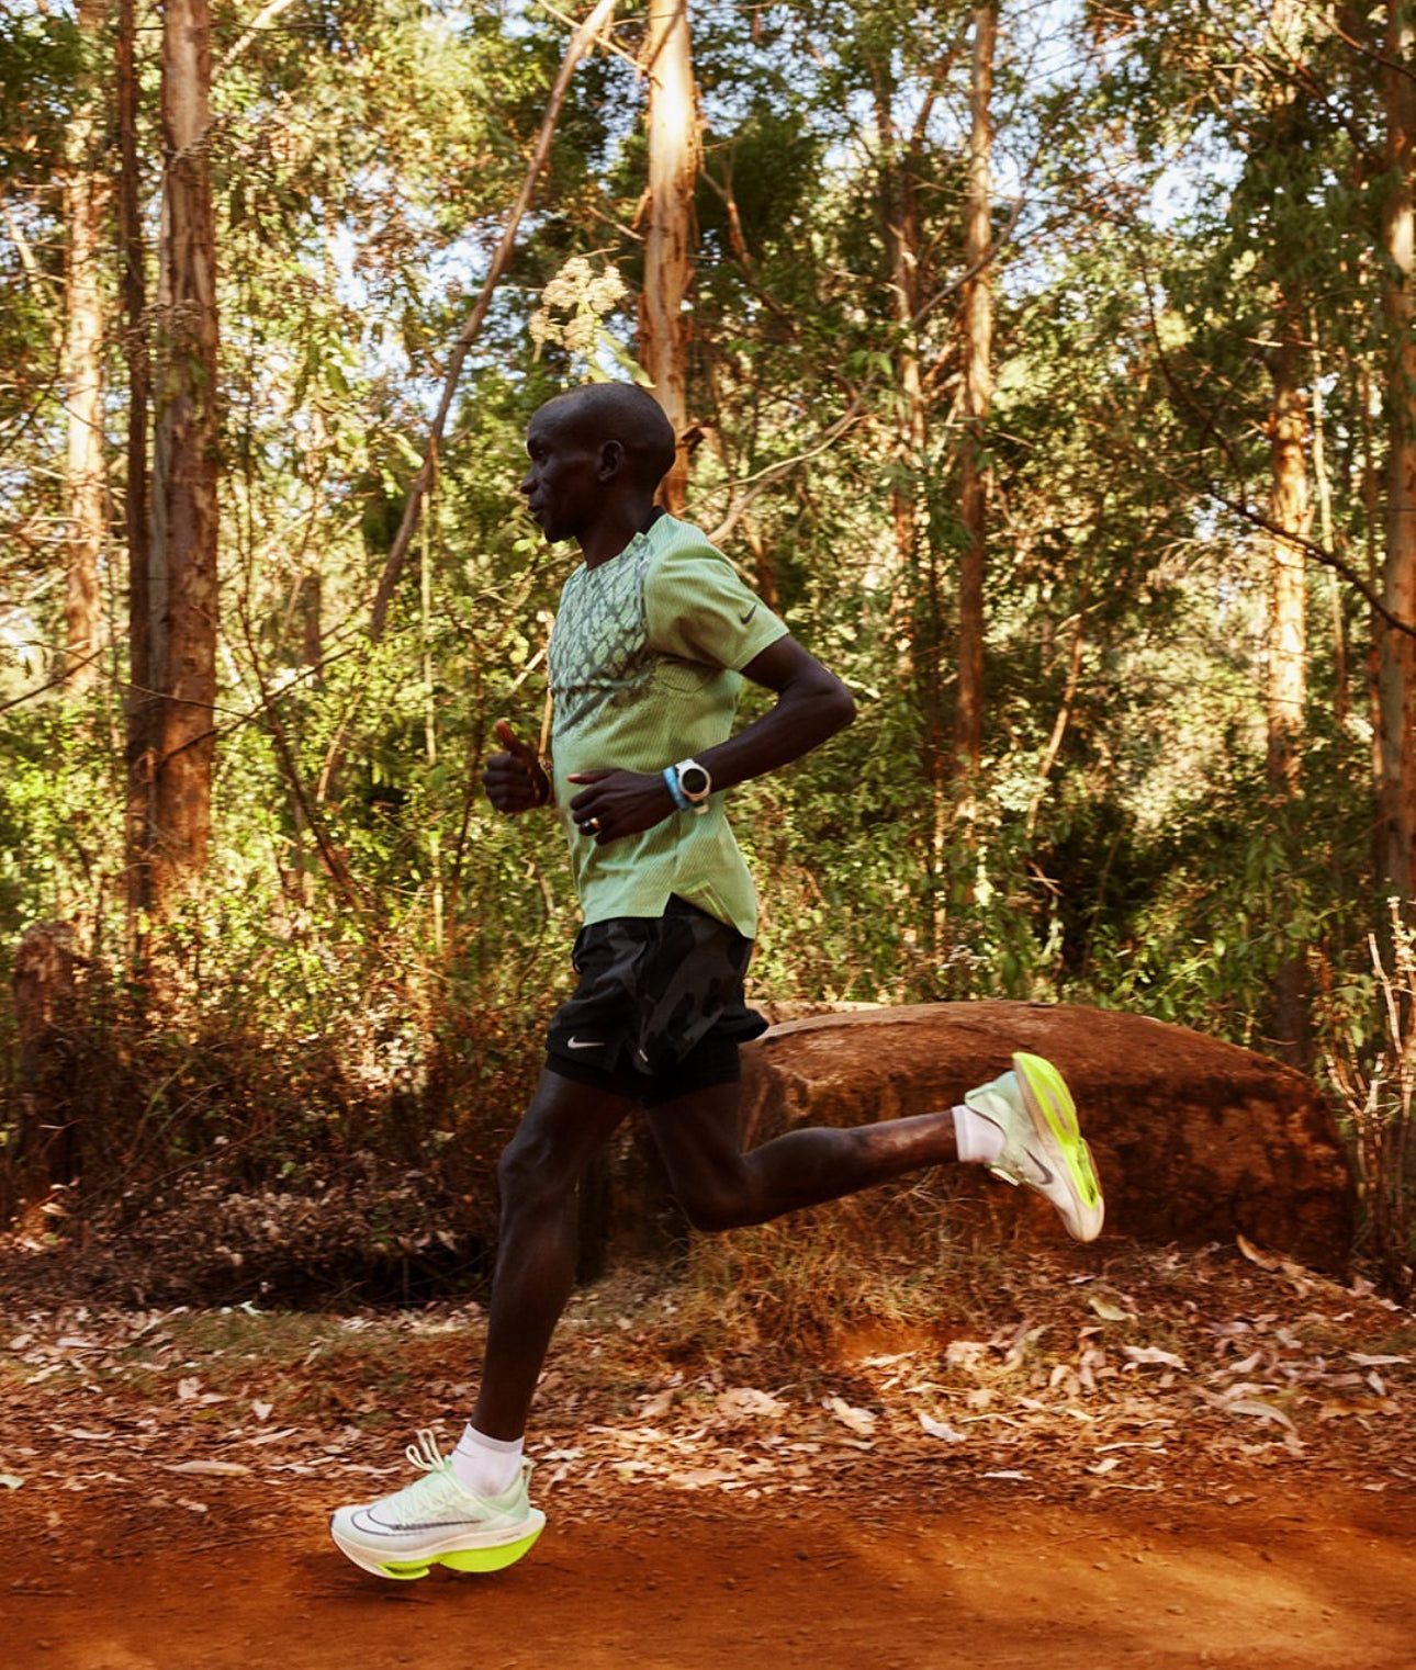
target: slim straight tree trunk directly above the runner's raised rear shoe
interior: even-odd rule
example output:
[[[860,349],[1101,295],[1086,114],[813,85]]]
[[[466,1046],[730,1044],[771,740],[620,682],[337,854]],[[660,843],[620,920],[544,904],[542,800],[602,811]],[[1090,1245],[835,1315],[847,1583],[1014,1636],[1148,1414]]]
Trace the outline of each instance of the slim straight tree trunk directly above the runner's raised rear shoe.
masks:
[[[958,564],[958,701],[953,750],[958,768],[958,813],[972,822],[975,777],[984,750],[984,571],[989,536],[987,423],[994,392],[994,291],[984,266],[989,254],[994,48],[999,18],[992,5],[974,13],[974,75],[970,84],[968,195],[963,222],[963,443],[960,453],[958,518],[963,554]]]

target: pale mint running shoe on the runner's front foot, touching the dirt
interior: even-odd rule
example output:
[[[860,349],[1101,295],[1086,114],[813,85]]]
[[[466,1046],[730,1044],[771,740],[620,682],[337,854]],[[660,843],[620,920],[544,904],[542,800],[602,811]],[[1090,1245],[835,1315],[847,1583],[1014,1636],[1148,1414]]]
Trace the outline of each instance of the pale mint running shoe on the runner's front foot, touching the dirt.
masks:
[[[376,1576],[407,1581],[427,1576],[429,1566],[454,1571],[499,1571],[519,1560],[546,1526],[531,1506],[526,1481],[531,1463],[499,1496],[478,1496],[453,1471],[432,1433],[421,1431],[406,1451],[422,1478],[381,1501],[337,1508],[329,1535],[339,1551]]]

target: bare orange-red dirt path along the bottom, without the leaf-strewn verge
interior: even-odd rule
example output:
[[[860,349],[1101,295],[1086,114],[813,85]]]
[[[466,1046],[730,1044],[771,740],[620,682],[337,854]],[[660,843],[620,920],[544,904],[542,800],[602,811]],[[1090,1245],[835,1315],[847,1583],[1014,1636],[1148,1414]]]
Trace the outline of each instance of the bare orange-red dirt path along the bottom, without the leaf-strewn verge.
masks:
[[[962,1498],[890,1518],[626,1486],[496,1576],[349,1566],[299,1486],[5,1503],[10,1670],[1413,1670],[1416,1493],[1306,1481],[1164,1506]],[[852,1500],[853,1498],[853,1500]],[[260,1518],[252,1520],[252,1513]]]

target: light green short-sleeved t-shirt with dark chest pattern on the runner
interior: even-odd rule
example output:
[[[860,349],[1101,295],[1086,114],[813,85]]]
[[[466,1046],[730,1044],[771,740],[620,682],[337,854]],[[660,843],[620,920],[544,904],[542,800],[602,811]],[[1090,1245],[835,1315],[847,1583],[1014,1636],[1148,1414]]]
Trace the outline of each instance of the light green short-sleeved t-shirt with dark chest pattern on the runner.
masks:
[[[576,772],[663,772],[731,733],[740,668],[786,626],[688,523],[660,516],[566,581],[551,633],[556,805],[586,922],[660,917],[671,893],[756,934],[756,893],[723,797],[596,847],[569,820]]]

